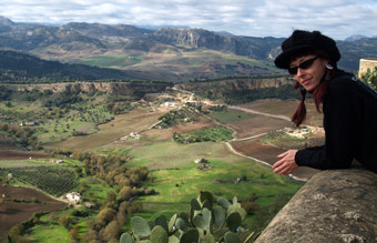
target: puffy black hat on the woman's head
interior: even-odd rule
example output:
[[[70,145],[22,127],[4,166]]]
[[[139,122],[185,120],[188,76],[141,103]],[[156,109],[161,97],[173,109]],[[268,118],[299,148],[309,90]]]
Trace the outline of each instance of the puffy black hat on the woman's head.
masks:
[[[282,43],[282,51],[275,59],[275,65],[281,69],[288,69],[292,58],[300,52],[324,51],[334,64],[340,59],[336,42],[319,31],[295,30],[292,36]]]

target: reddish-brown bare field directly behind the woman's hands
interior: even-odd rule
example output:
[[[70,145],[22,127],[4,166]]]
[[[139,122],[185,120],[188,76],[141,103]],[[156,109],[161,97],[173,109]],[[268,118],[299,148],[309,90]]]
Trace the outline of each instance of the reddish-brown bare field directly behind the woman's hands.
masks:
[[[286,151],[263,143],[259,141],[259,139],[231,142],[231,145],[238,153],[265,161],[271,165],[278,161],[277,159],[278,154],[284,153]],[[299,168],[293,173],[293,175],[300,179],[309,179],[317,172],[318,170],[312,168]]]

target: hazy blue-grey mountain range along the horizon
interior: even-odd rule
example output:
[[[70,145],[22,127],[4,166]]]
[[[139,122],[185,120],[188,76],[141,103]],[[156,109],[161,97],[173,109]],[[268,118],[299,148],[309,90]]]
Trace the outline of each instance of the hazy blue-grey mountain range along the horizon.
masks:
[[[204,29],[144,29],[129,24],[16,23],[0,17],[0,49],[43,60],[126,71],[145,80],[187,81],[283,74],[273,60],[284,38],[240,37]],[[377,57],[377,38],[337,41],[339,68],[357,71],[359,59]]]

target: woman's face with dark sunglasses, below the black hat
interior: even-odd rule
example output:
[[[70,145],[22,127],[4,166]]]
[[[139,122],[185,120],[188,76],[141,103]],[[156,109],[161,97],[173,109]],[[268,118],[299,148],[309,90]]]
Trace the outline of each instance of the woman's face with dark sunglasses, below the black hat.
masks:
[[[327,63],[326,59],[316,54],[307,54],[294,59],[288,70],[305,90],[313,91],[324,77]]]

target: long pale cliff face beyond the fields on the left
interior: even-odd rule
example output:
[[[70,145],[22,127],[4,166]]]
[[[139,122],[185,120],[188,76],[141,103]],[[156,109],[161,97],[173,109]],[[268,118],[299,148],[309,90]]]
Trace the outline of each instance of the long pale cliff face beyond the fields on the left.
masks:
[[[8,84],[7,88],[16,91],[51,90],[52,92],[82,91],[104,92],[113,94],[157,93],[164,91],[169,83],[143,82],[69,82],[49,84]]]

